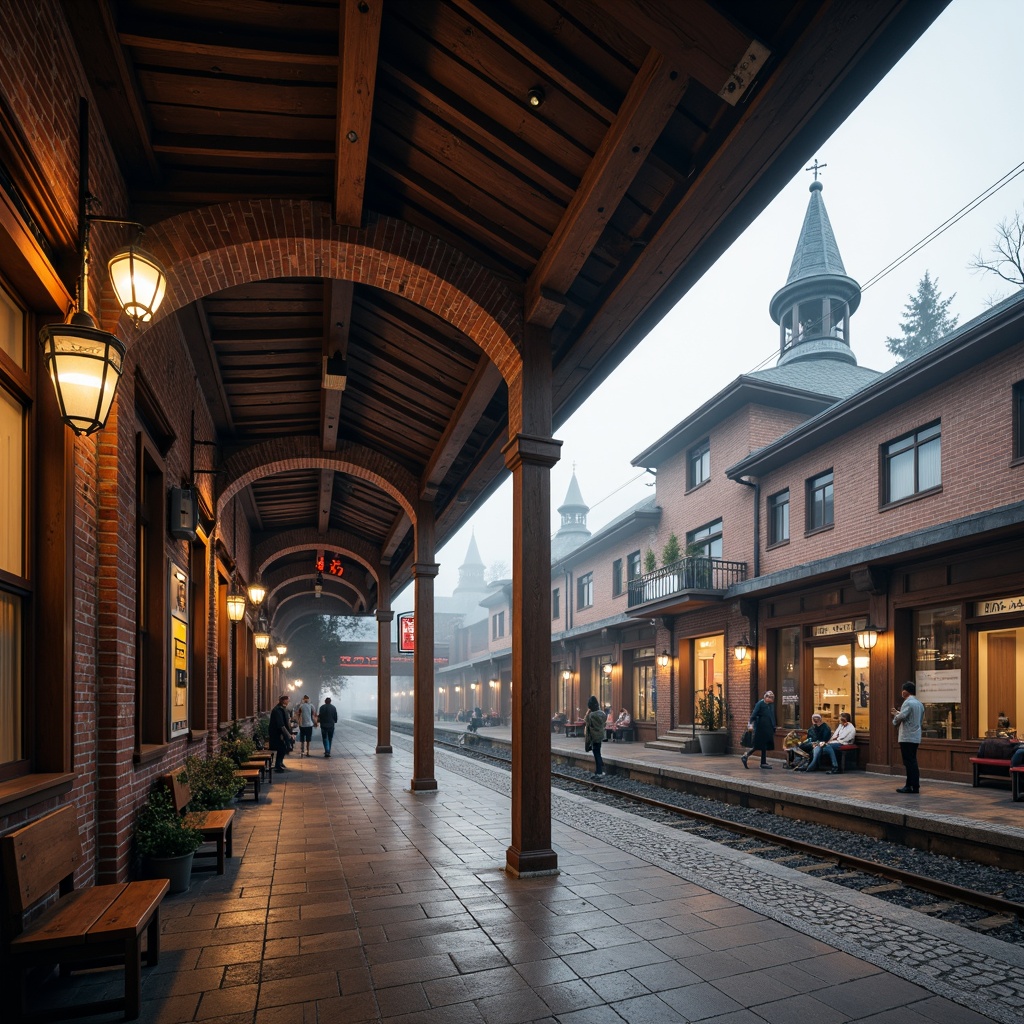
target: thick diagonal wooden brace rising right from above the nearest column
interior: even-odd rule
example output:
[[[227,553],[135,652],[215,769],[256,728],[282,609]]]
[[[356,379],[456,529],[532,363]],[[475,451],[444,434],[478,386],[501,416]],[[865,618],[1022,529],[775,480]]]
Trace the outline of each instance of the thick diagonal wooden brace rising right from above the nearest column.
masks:
[[[651,50],[594,156],[572,202],[526,283],[527,321],[553,327],[564,295],[686,91],[674,61]]]

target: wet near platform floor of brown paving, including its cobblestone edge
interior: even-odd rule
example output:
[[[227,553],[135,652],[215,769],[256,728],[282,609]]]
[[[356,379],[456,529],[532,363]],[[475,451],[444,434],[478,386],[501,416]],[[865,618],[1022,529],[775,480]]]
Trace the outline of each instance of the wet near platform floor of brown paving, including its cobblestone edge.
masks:
[[[165,900],[142,1021],[1021,1019],[1024,950],[582,798],[553,796],[559,873],[509,878],[507,773],[438,752],[413,794],[411,740],[375,741],[343,722],[239,805],[227,872]]]

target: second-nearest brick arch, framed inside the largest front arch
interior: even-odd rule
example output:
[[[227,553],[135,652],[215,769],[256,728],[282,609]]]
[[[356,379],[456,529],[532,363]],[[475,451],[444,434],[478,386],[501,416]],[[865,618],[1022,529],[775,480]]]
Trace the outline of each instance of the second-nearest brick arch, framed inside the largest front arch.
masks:
[[[217,475],[217,519],[227,503],[254,480],[297,469],[334,469],[373,483],[416,521],[419,483],[408,469],[352,441],[339,441],[337,451],[325,452],[319,438],[311,436],[272,437],[232,455]]]

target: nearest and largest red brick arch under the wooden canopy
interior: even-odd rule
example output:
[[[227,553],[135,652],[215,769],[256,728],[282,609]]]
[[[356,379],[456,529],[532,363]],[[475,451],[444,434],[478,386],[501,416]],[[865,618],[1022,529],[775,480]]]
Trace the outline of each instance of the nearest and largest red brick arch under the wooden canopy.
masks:
[[[252,199],[177,214],[146,228],[168,274],[157,321],[225,288],[270,278],[329,278],[380,288],[422,306],[471,339],[511,381],[521,364],[522,302],[455,246],[403,220],[369,213],[339,227],[327,203]],[[118,322],[104,289],[102,319]]]

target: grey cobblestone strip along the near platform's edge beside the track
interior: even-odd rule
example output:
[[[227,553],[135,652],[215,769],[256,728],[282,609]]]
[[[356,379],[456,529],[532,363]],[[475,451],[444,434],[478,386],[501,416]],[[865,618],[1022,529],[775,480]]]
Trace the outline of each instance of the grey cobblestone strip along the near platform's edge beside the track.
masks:
[[[501,768],[441,751],[435,763],[495,793],[511,795],[511,778]],[[614,808],[604,811],[600,825],[595,826],[593,808],[585,798],[552,793],[554,819],[577,831],[992,1020],[1021,1021],[1024,950],[782,864],[683,835],[669,825],[643,821]],[[709,872],[712,851],[715,871]],[[849,920],[842,933],[819,923],[834,910]]]

